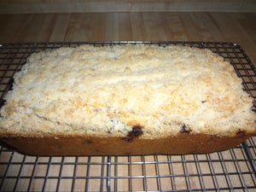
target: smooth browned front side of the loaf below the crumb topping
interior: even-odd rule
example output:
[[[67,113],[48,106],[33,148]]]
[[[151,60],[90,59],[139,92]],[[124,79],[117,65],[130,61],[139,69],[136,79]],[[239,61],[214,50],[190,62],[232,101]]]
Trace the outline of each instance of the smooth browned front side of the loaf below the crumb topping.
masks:
[[[141,137],[2,137],[1,144],[30,155],[141,155],[205,154],[234,148],[254,134],[218,137],[179,134],[164,138]]]

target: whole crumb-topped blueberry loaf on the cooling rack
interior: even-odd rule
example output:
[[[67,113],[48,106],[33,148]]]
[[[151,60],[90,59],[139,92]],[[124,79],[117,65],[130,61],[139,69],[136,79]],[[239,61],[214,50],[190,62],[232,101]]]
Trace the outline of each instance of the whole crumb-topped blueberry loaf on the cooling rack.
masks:
[[[32,54],[1,108],[26,154],[200,154],[255,134],[253,98],[209,49],[81,45]]]

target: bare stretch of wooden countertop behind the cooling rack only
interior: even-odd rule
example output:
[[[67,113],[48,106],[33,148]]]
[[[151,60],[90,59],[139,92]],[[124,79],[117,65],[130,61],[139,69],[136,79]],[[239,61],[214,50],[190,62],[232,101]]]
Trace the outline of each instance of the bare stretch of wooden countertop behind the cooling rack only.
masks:
[[[0,42],[217,41],[240,44],[256,63],[253,13],[0,15]]]

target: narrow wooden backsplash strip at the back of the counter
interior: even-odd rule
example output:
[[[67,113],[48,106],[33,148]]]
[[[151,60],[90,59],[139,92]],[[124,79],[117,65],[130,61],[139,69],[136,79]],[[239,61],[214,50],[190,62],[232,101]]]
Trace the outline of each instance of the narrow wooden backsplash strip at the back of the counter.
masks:
[[[256,12],[253,0],[0,0],[0,14],[89,12]]]

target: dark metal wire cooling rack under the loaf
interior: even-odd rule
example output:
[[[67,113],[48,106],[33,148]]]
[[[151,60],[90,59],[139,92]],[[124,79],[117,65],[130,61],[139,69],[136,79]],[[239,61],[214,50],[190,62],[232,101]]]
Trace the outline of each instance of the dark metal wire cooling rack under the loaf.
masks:
[[[256,70],[238,44],[212,42],[72,42],[0,46],[0,107],[14,74],[32,52],[79,44],[179,44],[212,49],[230,61],[253,98]],[[0,146],[0,191],[256,191],[256,137],[212,154],[30,156]]]

